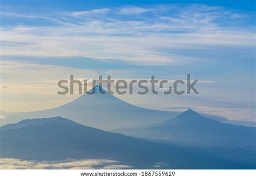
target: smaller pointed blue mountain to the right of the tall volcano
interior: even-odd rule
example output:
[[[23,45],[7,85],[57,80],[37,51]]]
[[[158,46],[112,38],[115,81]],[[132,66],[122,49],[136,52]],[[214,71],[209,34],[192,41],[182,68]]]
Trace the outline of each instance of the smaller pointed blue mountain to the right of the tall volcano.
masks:
[[[191,109],[154,126],[116,130],[256,165],[256,127],[220,123]]]

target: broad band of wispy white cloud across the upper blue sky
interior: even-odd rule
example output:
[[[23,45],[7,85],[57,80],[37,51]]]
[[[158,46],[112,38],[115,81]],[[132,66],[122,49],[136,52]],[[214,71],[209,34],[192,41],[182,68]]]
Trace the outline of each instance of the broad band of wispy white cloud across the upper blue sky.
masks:
[[[144,15],[144,12],[151,15]],[[8,14],[14,16],[12,12],[3,13],[6,18]],[[129,6],[38,13],[36,17],[46,24],[49,22],[48,25],[20,22],[14,26],[2,25],[2,55],[86,56],[152,66],[202,60],[173,52],[177,49],[254,45],[253,30],[225,25],[234,16],[242,15],[217,6],[176,5],[164,10],[159,6],[151,9]],[[135,16],[123,19],[118,13]],[[137,15],[142,15],[143,19]],[[18,16],[34,17],[25,12]],[[5,45],[13,41],[18,41],[19,45],[14,48]]]

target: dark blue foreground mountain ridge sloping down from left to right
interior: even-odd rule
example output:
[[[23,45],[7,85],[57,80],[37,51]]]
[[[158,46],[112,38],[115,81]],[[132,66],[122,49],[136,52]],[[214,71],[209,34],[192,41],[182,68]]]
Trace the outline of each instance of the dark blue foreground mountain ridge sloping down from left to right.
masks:
[[[247,169],[251,162],[234,161],[204,151],[153,143],[77,124],[61,117],[27,119],[0,127],[0,157],[25,160],[113,159],[133,168]]]

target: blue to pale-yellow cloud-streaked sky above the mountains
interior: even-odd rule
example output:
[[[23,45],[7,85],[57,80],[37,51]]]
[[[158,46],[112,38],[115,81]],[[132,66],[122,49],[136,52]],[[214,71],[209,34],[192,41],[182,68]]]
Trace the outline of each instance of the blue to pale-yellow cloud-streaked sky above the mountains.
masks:
[[[3,1],[0,110],[68,103],[57,81],[199,79],[200,95],[116,95],[151,109],[255,120],[254,1]]]

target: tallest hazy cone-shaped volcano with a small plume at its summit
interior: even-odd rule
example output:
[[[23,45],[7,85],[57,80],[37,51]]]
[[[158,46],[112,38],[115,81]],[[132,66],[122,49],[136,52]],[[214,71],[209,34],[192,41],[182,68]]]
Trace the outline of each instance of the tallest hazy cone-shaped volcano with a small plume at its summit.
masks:
[[[104,91],[105,95],[100,94],[100,90]],[[96,94],[84,94],[75,101],[53,109],[19,113],[1,112],[6,119],[1,119],[0,124],[15,123],[29,118],[60,116],[79,124],[112,130],[161,123],[179,114],[179,112],[139,108],[109,94],[99,85],[95,87],[95,91]]]

